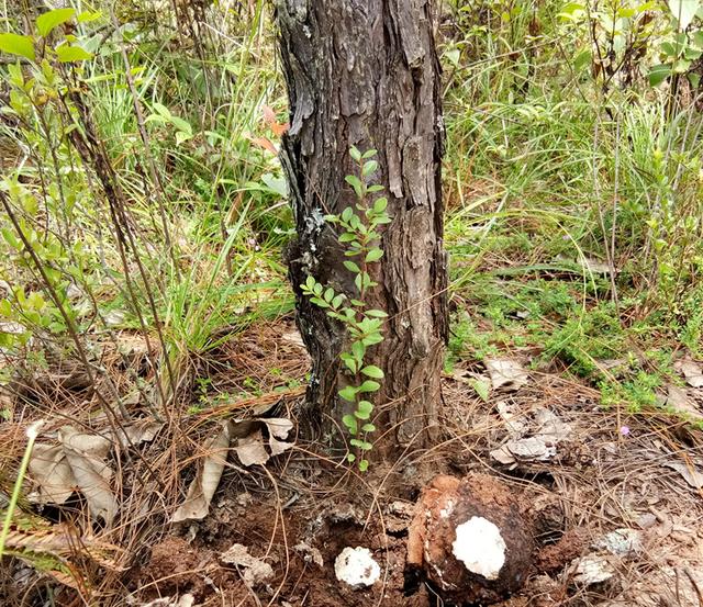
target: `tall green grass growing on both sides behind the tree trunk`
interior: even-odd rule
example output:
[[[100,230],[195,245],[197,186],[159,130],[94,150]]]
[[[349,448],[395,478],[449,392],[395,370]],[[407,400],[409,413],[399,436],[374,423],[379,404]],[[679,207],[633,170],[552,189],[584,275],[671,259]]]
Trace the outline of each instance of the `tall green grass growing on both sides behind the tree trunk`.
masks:
[[[582,25],[560,21],[561,8],[448,4],[446,245],[458,305],[448,366],[531,348],[540,352],[535,366],[601,385],[604,403],[644,406],[673,381],[674,352],[703,355],[702,121],[693,105],[670,112],[666,89],[644,80],[605,94],[574,63],[591,41]],[[287,111],[269,15],[263,0],[248,19],[213,11],[200,53],[178,46],[175,31],[146,12],[124,9],[135,97],[115,44],[75,72],[129,204],[126,265],[58,106],[4,131],[33,150],[19,172],[46,211],[14,204],[35,240],[51,245],[41,252],[62,277],[62,304],[79,331],[113,330],[101,318],[121,311],[119,329],[150,333],[168,360],[186,366],[292,306],[280,259],[293,222],[270,149]],[[107,14],[79,26],[87,44]],[[192,137],[179,142],[174,124],[147,120],[143,140],[135,102],[146,119],[168,108]],[[49,140],[70,171],[55,166]],[[10,252],[3,279],[36,302],[36,270]],[[592,269],[609,263],[612,279]],[[89,305],[67,296],[71,282]],[[8,299],[8,319],[69,344],[51,297],[38,311],[20,300]],[[602,361],[618,359],[627,361],[622,375],[603,370]]]

